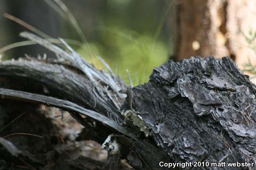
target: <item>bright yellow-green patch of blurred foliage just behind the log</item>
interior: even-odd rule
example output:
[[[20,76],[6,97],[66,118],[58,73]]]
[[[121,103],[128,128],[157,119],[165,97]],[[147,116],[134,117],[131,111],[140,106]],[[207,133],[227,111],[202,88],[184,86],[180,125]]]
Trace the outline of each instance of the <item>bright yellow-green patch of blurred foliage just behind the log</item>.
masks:
[[[114,32],[102,31],[102,41],[107,41],[106,46],[98,42],[88,42],[90,52],[86,50],[87,47],[79,48],[77,52],[98,68],[104,67],[97,59],[97,56],[102,56],[112,70],[129,84],[126,73],[128,69],[135,85],[147,81],[152,69],[168,60],[168,47],[164,42],[155,43],[150,36],[143,36],[142,41],[138,37],[132,37],[132,33],[127,33],[130,36],[124,37],[117,30]]]

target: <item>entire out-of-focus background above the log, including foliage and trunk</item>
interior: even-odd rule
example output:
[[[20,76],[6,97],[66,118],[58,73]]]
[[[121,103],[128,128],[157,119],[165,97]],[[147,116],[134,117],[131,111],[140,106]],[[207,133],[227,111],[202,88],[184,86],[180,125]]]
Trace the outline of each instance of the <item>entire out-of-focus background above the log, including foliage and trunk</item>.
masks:
[[[100,69],[102,56],[127,84],[127,70],[138,85],[169,59],[196,55],[230,56],[256,73],[256,0],[0,0],[2,59],[54,57],[22,31],[64,38]]]

